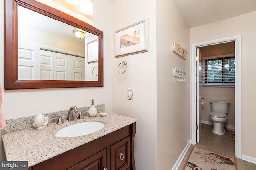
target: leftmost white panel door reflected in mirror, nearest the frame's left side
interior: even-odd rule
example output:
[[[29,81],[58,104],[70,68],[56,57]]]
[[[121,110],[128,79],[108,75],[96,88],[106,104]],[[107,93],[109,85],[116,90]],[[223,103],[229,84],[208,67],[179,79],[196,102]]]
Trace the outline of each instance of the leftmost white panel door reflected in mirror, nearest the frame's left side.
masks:
[[[18,46],[18,79],[40,80],[40,47],[25,42]]]

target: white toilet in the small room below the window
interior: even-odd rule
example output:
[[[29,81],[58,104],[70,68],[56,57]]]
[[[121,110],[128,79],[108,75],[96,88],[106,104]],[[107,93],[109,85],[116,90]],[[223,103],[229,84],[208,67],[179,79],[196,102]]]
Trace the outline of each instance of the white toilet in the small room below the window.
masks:
[[[228,121],[228,106],[230,102],[210,101],[211,110],[210,120],[213,122],[212,133],[224,135],[225,129],[223,124]]]

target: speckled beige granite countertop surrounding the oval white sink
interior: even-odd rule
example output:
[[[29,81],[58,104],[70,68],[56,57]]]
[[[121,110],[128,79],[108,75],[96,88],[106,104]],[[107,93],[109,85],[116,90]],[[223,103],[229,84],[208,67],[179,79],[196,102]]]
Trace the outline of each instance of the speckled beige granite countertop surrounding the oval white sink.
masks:
[[[107,113],[106,116],[84,116],[85,119],[66,121],[61,125],[50,123],[44,129],[24,129],[2,135],[7,161],[28,161],[28,167],[48,160],[58,154],[74,149],[108,133],[121,129],[137,121],[137,119]],[[68,125],[84,121],[102,121],[106,126],[94,133],[79,137],[56,137],[54,134]]]

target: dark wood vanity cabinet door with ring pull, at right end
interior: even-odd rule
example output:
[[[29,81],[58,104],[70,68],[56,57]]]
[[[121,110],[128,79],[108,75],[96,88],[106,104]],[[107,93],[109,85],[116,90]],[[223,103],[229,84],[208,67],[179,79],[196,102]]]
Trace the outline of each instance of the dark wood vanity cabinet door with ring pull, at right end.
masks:
[[[111,170],[126,170],[130,167],[131,158],[130,137],[122,139],[110,146]]]

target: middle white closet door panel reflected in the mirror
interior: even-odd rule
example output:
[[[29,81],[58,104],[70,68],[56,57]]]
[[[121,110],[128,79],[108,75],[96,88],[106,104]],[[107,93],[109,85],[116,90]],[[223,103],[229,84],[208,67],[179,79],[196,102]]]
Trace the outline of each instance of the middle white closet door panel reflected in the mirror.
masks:
[[[54,53],[54,80],[70,80],[70,56]]]

